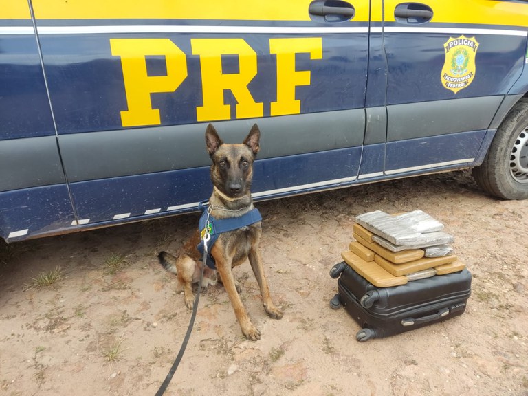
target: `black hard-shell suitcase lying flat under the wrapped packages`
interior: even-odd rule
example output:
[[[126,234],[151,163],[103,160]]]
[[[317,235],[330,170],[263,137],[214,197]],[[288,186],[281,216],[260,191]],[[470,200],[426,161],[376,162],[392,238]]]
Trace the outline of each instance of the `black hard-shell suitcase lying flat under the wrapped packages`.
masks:
[[[343,305],[363,327],[360,342],[417,329],[463,314],[471,294],[467,269],[410,281],[395,287],[375,287],[344,261],[330,270],[338,279],[338,294],[330,306]]]

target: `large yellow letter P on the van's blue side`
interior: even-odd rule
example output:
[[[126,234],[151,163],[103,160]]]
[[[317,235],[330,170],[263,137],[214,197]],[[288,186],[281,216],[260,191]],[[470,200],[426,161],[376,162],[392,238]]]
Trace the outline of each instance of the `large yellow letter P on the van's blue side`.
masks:
[[[126,103],[123,126],[161,124],[159,109],[152,108],[151,94],[173,92],[187,77],[187,60],[169,39],[110,39],[113,56],[121,56]],[[165,56],[166,76],[148,76],[145,56]]]

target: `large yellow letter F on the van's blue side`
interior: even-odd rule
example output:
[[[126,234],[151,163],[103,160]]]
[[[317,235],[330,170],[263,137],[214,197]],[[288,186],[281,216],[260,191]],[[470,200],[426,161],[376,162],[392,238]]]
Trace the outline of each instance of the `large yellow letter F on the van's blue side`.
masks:
[[[270,39],[270,53],[277,56],[277,101],[271,104],[271,115],[300,113],[295,87],[310,85],[310,71],[295,69],[295,54],[308,52],[310,59],[322,58],[322,38]]]

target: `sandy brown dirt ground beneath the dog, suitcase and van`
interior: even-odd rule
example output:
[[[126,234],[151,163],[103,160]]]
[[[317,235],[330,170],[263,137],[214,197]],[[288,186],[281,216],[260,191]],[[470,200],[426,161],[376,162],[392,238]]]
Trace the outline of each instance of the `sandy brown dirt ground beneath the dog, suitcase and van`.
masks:
[[[257,204],[282,320],[268,318],[248,263],[234,270],[262,338],[245,340],[220,285],[166,395],[528,395],[528,201],[484,195],[469,172]],[[360,343],[329,300],[355,215],[421,209],[455,236],[473,274],[462,316]],[[1,245],[0,395],[154,395],[190,311],[157,263],[197,214]],[[39,274],[58,268],[51,287]]]

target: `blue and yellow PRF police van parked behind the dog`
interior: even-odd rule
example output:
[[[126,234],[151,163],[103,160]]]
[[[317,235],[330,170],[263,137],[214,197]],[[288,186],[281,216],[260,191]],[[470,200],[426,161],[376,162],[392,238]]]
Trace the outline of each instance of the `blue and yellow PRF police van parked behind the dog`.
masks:
[[[197,210],[209,122],[256,200],[457,168],[528,197],[528,4],[0,0],[0,236]]]

